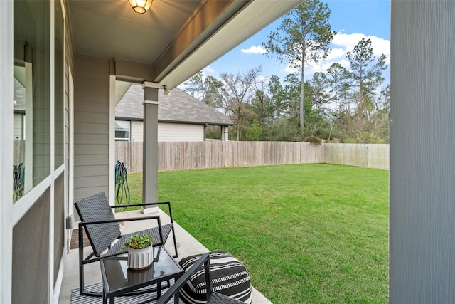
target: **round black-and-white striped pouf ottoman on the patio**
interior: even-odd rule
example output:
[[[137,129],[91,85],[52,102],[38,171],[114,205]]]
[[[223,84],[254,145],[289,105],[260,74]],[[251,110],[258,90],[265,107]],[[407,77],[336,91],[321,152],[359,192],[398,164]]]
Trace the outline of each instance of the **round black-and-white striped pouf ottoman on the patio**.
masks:
[[[201,255],[182,258],[180,266],[186,271]],[[210,276],[212,289],[230,298],[251,303],[250,275],[240,261],[225,251],[210,252]],[[180,300],[187,304],[205,303],[205,275],[201,266],[180,290]]]

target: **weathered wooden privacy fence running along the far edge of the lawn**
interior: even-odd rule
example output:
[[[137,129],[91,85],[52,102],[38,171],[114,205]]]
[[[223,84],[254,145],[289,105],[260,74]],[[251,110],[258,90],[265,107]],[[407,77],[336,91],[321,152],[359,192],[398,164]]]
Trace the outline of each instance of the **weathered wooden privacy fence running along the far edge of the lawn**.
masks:
[[[142,172],[142,142],[115,142],[116,159]],[[158,142],[158,170],[328,163],[389,168],[389,145],[309,142]]]

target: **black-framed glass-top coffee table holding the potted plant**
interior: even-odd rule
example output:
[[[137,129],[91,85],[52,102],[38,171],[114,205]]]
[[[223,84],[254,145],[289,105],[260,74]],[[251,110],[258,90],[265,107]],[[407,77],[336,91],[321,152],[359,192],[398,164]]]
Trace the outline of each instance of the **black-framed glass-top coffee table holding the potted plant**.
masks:
[[[121,295],[139,295],[156,292],[161,296],[161,289],[171,285],[171,279],[177,280],[185,272],[164,246],[154,248],[154,263],[142,270],[128,268],[128,256],[111,256],[100,260],[103,282],[102,302],[114,303]],[[153,300],[153,299],[150,299]],[[178,303],[178,294],[174,298]]]

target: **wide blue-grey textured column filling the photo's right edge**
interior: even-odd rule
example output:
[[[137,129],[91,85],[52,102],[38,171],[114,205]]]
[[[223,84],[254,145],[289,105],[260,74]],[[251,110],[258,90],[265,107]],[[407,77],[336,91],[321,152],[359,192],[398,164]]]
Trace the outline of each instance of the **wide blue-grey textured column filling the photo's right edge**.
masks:
[[[391,21],[390,303],[455,303],[455,1]]]

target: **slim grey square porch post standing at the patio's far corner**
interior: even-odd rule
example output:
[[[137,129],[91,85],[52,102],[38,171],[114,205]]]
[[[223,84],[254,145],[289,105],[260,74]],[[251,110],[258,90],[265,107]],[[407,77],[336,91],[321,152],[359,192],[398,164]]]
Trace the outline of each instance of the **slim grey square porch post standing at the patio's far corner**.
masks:
[[[158,199],[158,89],[144,83],[144,142],[142,164],[142,201],[153,203]],[[142,208],[142,213],[157,211]]]

